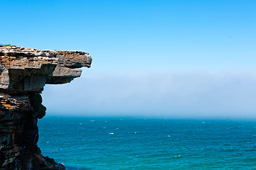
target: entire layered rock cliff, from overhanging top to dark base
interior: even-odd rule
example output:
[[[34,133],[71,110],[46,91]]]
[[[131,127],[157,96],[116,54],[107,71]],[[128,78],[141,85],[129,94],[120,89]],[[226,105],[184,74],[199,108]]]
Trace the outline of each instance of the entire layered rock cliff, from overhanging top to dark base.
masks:
[[[37,146],[38,118],[46,115],[41,91],[80,77],[92,58],[82,51],[0,47],[0,170],[65,169]]]

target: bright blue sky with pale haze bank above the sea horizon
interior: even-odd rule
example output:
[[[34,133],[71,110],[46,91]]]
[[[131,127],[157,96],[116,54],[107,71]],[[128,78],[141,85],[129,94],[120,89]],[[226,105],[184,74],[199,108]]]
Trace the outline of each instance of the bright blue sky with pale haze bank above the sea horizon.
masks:
[[[0,43],[90,52],[47,115],[256,118],[255,0],[0,0]]]

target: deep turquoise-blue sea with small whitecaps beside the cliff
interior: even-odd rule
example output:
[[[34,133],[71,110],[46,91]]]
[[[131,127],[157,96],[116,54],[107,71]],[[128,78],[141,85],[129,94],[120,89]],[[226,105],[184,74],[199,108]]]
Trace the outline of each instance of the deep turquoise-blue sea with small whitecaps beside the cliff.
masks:
[[[38,120],[44,156],[67,169],[256,169],[256,121]]]

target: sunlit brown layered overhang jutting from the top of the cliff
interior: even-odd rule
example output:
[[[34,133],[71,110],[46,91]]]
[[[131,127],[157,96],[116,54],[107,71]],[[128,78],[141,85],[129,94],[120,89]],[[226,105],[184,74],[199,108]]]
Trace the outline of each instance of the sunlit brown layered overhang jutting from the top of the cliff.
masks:
[[[83,51],[0,47],[0,91],[41,92],[45,84],[65,84],[90,67],[92,57]]]

